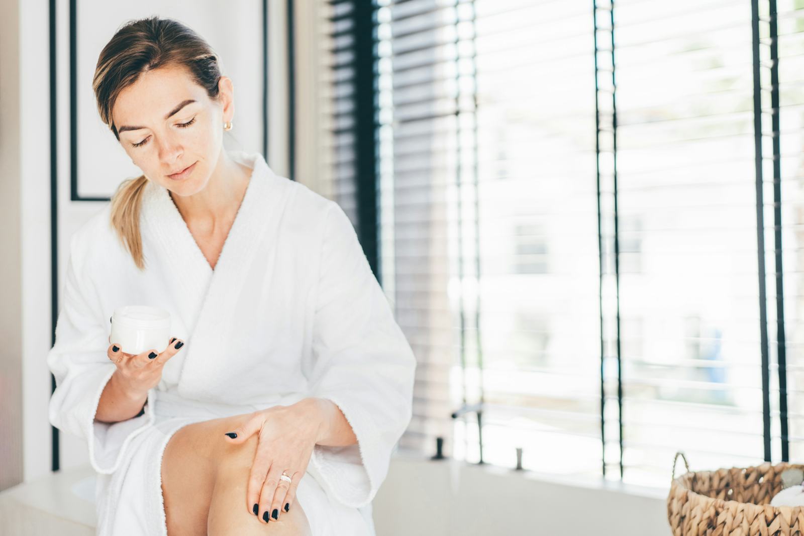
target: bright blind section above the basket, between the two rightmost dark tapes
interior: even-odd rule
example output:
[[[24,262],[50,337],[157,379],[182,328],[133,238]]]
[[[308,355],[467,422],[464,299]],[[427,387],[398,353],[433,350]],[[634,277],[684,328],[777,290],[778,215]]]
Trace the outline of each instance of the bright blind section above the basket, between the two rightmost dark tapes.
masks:
[[[751,9],[613,9],[624,479],[667,485],[677,450],[762,461]]]

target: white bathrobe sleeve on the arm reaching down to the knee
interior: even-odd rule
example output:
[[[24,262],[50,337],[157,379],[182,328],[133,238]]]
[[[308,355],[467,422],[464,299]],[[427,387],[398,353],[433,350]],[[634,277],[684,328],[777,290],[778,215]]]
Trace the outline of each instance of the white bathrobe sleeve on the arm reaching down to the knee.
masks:
[[[310,464],[333,497],[359,508],[371,503],[410,423],[416,358],[351,221],[334,202],[318,266],[311,396],[337,404],[358,443],[316,445]]]

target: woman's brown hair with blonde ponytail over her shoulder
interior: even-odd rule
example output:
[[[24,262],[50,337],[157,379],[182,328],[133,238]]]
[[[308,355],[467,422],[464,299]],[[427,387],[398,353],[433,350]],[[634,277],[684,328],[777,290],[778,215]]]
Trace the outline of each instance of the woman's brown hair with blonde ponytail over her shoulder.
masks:
[[[134,84],[143,72],[157,68],[186,68],[195,84],[219,98],[220,64],[209,43],[183,23],[152,16],[125,23],[100,51],[92,89],[100,119],[120,141],[112,109],[121,91]],[[140,207],[148,178],[140,175],[117,186],[111,204],[110,223],[129,250],[134,264],[145,269],[140,235]]]

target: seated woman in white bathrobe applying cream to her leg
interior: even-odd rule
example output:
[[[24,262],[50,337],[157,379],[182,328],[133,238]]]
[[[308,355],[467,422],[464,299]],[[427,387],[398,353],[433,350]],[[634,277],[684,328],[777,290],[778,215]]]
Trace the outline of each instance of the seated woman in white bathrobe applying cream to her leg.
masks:
[[[232,80],[182,24],[122,27],[93,87],[143,172],[72,236],[47,356],[97,534],[374,534],[416,363],[349,219],[224,149]],[[123,305],[166,309],[175,337],[123,353]]]

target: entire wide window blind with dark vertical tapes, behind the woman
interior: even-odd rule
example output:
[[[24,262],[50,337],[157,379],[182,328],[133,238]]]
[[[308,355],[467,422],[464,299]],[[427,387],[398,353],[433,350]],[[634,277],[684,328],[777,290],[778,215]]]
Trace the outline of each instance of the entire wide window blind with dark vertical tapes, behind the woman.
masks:
[[[366,44],[323,3],[357,227]],[[401,448],[664,487],[678,450],[804,453],[802,8],[372,2],[370,223],[418,362]]]

